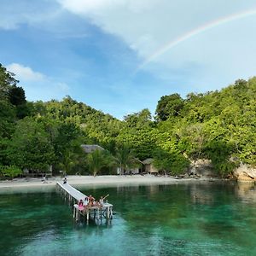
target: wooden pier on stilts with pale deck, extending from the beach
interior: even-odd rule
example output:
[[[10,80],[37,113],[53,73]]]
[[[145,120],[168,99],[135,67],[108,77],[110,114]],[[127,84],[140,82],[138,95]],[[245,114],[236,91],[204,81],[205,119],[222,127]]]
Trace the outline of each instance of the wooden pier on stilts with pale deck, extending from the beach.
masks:
[[[113,218],[113,205],[108,202],[104,202],[101,207],[85,207],[84,210],[79,210],[77,204],[81,199],[84,201],[86,195],[81,193],[78,189],[68,183],[57,183],[57,189],[64,195],[65,200],[68,200],[73,205],[73,218],[79,220],[80,217],[85,217],[87,221],[89,218]]]

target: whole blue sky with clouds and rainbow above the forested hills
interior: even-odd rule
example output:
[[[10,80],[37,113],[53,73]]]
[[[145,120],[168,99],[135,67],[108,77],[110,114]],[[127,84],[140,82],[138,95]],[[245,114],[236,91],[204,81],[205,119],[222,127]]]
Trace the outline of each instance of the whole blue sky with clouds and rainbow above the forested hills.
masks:
[[[28,101],[118,119],[256,75],[256,0],[1,0],[0,63]]]

